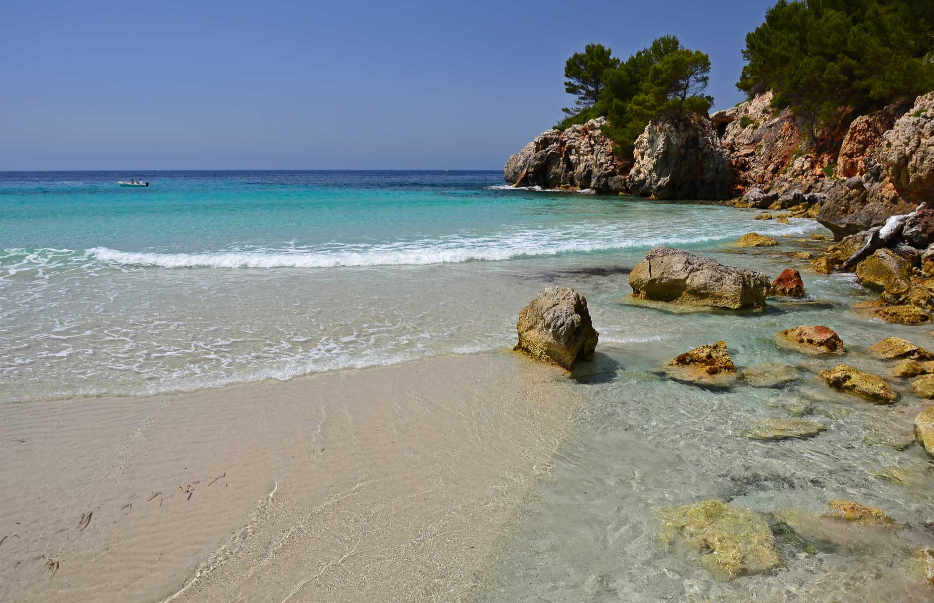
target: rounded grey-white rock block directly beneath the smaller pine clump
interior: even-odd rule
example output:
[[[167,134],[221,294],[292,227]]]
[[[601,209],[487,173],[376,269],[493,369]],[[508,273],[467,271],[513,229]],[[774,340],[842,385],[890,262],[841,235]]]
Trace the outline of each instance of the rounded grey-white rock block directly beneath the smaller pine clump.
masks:
[[[709,120],[649,122],[636,138],[627,178],[630,193],[658,199],[729,199],[729,153]]]

